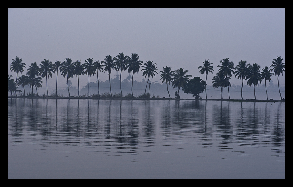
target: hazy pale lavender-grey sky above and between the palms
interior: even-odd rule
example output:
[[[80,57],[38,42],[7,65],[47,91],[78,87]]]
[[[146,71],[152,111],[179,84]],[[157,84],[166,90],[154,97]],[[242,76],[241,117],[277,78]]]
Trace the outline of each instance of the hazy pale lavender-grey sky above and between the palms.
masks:
[[[285,8],[8,8],[8,74],[13,79],[16,74],[9,68],[16,56],[26,64],[25,74],[31,63],[39,65],[44,59],[101,62],[122,52],[157,63],[158,73],[168,65],[172,70],[188,69],[192,77],[203,80],[198,66],[209,59],[215,71],[208,74],[207,84],[212,85],[225,57],[235,66],[246,60],[264,68],[277,56],[286,62]],[[128,74],[122,72],[122,80]],[[141,70],[134,74],[134,79],[142,78]],[[99,72],[99,79],[109,77]],[[277,84],[277,76],[272,80]],[[77,86],[77,78],[71,81]],[[80,85],[87,81],[83,75]],[[90,81],[96,82],[97,76]],[[161,83],[159,74],[152,81]],[[65,82],[58,73],[58,84]],[[235,76],[230,82],[242,83]],[[285,73],[279,83],[285,84]],[[55,87],[56,73],[48,84]]]

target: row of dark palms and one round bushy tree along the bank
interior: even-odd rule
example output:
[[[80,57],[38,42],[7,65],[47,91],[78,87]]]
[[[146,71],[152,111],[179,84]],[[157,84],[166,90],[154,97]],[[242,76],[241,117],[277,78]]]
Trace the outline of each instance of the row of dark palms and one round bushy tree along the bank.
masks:
[[[270,81],[272,74],[278,76],[278,88],[279,88],[279,75],[283,75],[283,71],[285,71],[285,62],[282,62],[283,59],[281,57],[277,57],[272,61],[272,69],[269,69],[267,66],[260,71],[260,66],[258,64],[250,65],[249,63],[246,64],[246,61],[240,61],[236,67],[234,67],[234,63],[232,61],[229,61],[229,58],[224,58],[220,61],[221,65],[218,65],[219,71],[217,72],[216,76],[213,77],[212,83],[214,88],[221,87],[221,97],[223,99],[223,87],[228,88],[228,95],[230,99],[230,93],[229,93],[229,87],[231,87],[231,83],[229,82],[229,79],[231,79],[232,74],[235,74],[235,77],[238,79],[242,79],[242,87],[241,87],[241,99],[243,100],[242,95],[242,88],[244,79],[247,80],[247,84],[250,86],[254,86],[254,99],[256,99],[255,96],[255,86],[258,86],[258,82],[261,83],[261,81],[265,80],[265,86],[266,86],[266,80]],[[74,76],[77,77],[78,80],[78,97],[80,97],[80,85],[79,85],[79,77],[81,75],[87,75],[88,76],[88,97],[91,97],[89,92],[89,82],[90,77],[92,75],[95,75],[97,73],[97,83],[98,83],[98,94],[97,96],[100,97],[100,85],[99,85],[99,76],[98,72],[102,71],[104,73],[107,72],[107,75],[109,75],[109,87],[110,87],[110,96],[112,95],[112,89],[111,89],[111,78],[110,75],[112,73],[112,70],[120,71],[120,96],[122,95],[122,84],[121,84],[121,74],[122,71],[128,71],[129,73],[132,73],[131,77],[131,97],[134,97],[133,95],[133,76],[134,73],[138,73],[140,70],[140,67],[142,67],[142,76],[144,78],[148,77],[148,80],[146,82],[146,87],[144,94],[146,95],[146,88],[147,84],[150,81],[150,77],[155,77],[158,72],[156,70],[156,63],[153,63],[153,61],[146,61],[144,65],[142,65],[142,61],[139,60],[139,56],[136,53],[132,53],[131,56],[124,55],[123,53],[119,53],[116,57],[112,58],[111,55],[108,55],[105,57],[104,61],[93,61],[93,58],[88,58],[85,60],[85,63],[81,63],[81,60],[77,60],[75,62],[72,62],[71,58],[65,58],[64,61],[61,63],[61,61],[56,60],[55,63],[52,63],[49,61],[49,59],[44,59],[40,67],[37,65],[36,62],[31,63],[29,68],[27,68],[26,75],[20,75],[18,76],[18,73],[22,73],[24,71],[24,68],[26,66],[25,63],[22,62],[22,59],[19,57],[16,57],[15,59],[12,59],[12,63],[10,65],[10,70],[16,72],[16,80],[14,81],[11,79],[12,76],[8,75],[8,93],[11,92],[15,93],[15,96],[17,96],[17,92],[22,92],[18,89],[17,86],[23,87],[23,96],[25,96],[25,89],[24,87],[26,85],[29,85],[31,87],[31,93],[28,93],[28,95],[31,96],[38,96],[38,88],[42,87],[42,78],[46,77],[46,88],[47,88],[47,96],[49,96],[48,93],[48,83],[47,79],[49,77],[52,78],[52,73],[55,74],[56,72],[56,95],[57,94],[57,85],[58,85],[58,71],[61,73],[61,75],[67,79],[67,88],[68,88],[68,94],[70,97],[70,90],[69,90],[69,83],[68,79],[73,78]],[[207,82],[207,74],[208,72],[212,73],[213,70],[213,63],[210,63],[209,60],[205,60],[203,62],[203,66],[199,66],[198,69],[200,69],[201,74],[206,75],[205,82],[201,80],[199,77],[194,77],[193,79],[190,79],[192,75],[187,75],[188,70],[183,70],[183,68],[179,68],[177,70],[171,71],[171,67],[166,66],[163,67],[163,71],[160,71],[160,80],[162,80],[162,83],[165,83],[167,85],[167,91],[169,98],[171,98],[168,84],[172,85],[173,88],[178,88],[178,91],[175,92],[175,98],[179,99],[179,91],[180,88],[184,91],[184,93],[192,94],[192,96],[199,98],[199,94],[202,93],[205,90],[205,95],[207,99],[207,91],[206,91],[206,82]],[[36,94],[34,94],[34,87],[36,89]],[[279,88],[280,97],[281,92]],[[148,93],[149,94],[149,93]],[[267,91],[266,91],[267,94]],[[267,97],[268,99],[268,97]]]

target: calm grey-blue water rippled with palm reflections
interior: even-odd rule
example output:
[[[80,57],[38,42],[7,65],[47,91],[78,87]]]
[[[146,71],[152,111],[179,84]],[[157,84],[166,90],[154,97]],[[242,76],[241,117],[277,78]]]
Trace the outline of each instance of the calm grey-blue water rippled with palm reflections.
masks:
[[[285,179],[285,103],[8,99],[8,179]]]

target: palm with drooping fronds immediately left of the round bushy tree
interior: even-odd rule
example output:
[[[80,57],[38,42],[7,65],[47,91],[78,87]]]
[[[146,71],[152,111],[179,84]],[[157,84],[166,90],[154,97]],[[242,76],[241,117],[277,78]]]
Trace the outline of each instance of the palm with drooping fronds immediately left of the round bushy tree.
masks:
[[[178,87],[178,95],[180,87],[184,87],[184,85],[190,80],[188,77],[192,77],[192,75],[186,75],[187,72],[188,70],[183,71],[183,68],[180,68],[173,73],[172,86],[173,88]]]

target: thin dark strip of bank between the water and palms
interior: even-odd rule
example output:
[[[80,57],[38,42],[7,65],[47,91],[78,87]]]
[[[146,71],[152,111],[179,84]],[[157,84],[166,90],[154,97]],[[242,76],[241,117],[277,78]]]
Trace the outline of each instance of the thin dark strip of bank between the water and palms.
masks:
[[[175,98],[149,98],[149,99],[144,99],[144,98],[88,98],[88,97],[15,97],[15,96],[8,96],[8,98],[27,98],[27,99],[92,99],[92,100],[195,100],[195,101],[231,101],[231,102],[285,102],[284,100],[258,100],[258,99],[175,99]]]

